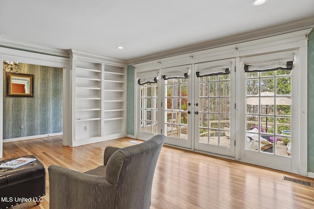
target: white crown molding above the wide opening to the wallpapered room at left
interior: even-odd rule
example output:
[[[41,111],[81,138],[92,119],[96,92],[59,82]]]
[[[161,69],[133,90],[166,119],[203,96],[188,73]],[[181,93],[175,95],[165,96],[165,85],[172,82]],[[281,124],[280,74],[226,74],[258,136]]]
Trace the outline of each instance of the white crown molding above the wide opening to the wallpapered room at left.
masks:
[[[48,54],[48,55],[64,57],[64,58],[69,57],[67,50],[36,46],[36,45],[6,40],[6,39],[0,39],[0,46],[6,47],[6,48],[13,48],[13,49],[18,49],[18,50],[34,52],[34,53]]]

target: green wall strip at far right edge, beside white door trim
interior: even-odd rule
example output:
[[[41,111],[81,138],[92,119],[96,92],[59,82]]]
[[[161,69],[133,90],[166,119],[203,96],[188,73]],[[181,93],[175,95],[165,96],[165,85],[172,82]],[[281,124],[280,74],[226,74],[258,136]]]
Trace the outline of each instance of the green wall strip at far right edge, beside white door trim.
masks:
[[[314,173],[314,30],[308,41],[308,172]]]

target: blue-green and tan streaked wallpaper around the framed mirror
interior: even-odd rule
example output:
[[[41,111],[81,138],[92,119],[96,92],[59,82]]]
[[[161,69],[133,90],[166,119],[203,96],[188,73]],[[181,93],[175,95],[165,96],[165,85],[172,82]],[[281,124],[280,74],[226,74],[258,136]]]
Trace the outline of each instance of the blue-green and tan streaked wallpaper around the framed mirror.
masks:
[[[63,69],[20,64],[20,73],[34,75],[34,97],[6,97],[4,72],[3,139],[62,132]]]

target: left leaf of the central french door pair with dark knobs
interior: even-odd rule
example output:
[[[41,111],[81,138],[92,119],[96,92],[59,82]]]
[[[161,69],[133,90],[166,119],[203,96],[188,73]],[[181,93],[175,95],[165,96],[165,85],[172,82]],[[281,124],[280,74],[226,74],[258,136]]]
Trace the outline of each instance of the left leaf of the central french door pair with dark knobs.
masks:
[[[165,143],[191,148],[191,65],[162,69]]]

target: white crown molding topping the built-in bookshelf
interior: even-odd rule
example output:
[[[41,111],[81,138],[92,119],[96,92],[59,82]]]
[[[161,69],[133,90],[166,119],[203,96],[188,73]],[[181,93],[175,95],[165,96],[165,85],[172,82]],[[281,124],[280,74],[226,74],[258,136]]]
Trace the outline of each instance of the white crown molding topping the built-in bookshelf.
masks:
[[[75,57],[76,59],[101,62],[101,63],[105,63],[108,65],[118,65],[118,66],[124,67],[127,64],[127,62],[125,60],[115,59],[115,58],[111,58],[111,57],[105,57],[105,56],[96,55],[96,54],[85,53],[85,52],[81,52],[81,51],[78,51],[75,49],[69,49],[68,54],[70,57],[73,57],[73,58]]]

